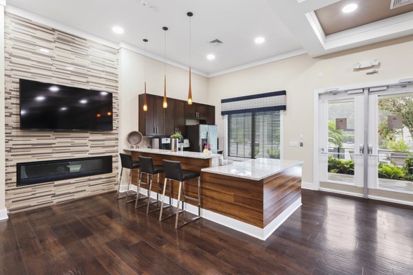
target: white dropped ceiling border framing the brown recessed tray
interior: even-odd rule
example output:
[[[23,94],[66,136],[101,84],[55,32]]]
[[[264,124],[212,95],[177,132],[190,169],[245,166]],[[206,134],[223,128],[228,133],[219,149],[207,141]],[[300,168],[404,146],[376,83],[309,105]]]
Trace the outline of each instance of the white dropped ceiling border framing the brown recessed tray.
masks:
[[[339,1],[267,0],[276,16],[288,27],[310,56],[321,56],[413,34],[413,12],[408,12],[326,36],[314,11]],[[348,3],[340,2],[343,5]],[[356,10],[353,16],[363,17],[364,14]]]

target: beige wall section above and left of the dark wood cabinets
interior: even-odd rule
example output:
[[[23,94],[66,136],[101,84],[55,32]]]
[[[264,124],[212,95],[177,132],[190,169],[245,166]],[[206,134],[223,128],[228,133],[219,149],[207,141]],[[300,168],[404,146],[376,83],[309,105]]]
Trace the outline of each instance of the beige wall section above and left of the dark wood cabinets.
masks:
[[[144,92],[145,56],[125,48],[119,51],[120,136],[119,151],[126,146],[126,136],[138,130],[138,95]],[[162,96],[164,63],[147,58],[147,93]],[[189,72],[167,65],[167,96],[187,100]],[[208,103],[208,78],[192,74],[193,100]]]

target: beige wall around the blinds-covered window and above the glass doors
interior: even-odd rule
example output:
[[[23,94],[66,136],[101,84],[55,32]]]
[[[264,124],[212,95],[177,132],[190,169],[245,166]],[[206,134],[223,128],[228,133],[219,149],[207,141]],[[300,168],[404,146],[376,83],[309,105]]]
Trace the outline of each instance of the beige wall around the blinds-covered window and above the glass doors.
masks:
[[[319,58],[303,54],[210,78],[209,104],[216,106],[220,141],[224,140],[224,120],[220,115],[222,98],[285,89],[284,158],[304,161],[303,181],[312,183],[315,89],[413,77],[412,49],[413,36],[410,36]],[[354,62],[374,58],[381,62],[379,74],[367,76],[366,72],[353,72]],[[323,72],[324,77],[318,77],[319,72]],[[304,147],[288,146],[290,141],[299,141],[301,133]]]

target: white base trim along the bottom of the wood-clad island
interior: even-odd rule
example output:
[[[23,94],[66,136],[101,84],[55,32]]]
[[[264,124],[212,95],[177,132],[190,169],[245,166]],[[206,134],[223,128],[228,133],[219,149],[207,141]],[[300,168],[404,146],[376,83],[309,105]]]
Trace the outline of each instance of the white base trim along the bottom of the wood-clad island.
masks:
[[[131,190],[134,190],[135,192],[137,191],[137,187],[135,185],[131,186]],[[147,194],[147,189],[145,188],[140,188],[140,193],[142,195]],[[120,186],[120,191],[125,192],[127,190],[127,185]],[[151,192],[151,198],[156,199],[156,192]],[[160,198],[159,198],[160,199]],[[169,197],[165,196],[163,199],[165,203],[169,203]],[[176,207],[176,203],[178,203],[177,199],[172,199],[173,206]],[[182,207],[182,205],[180,205]],[[207,219],[209,221],[213,221],[214,223],[218,223],[220,225],[224,225],[227,228],[231,228],[233,230],[237,230],[239,232],[242,232],[244,234],[253,236],[257,239],[260,239],[262,241],[265,241],[268,236],[271,236],[277,228],[279,228],[279,225],[282,225],[288,217],[290,217],[295,210],[297,210],[301,206],[301,197],[297,199],[294,203],[292,203],[282,214],[279,214],[277,218],[275,218],[271,223],[269,223],[265,228],[258,228],[257,226],[244,223],[242,221],[238,221],[237,219],[233,219],[230,217],[226,217],[222,214],[215,213],[210,210],[202,209],[201,208],[201,217],[204,219]],[[185,203],[185,209],[186,211],[190,212],[191,214],[198,214],[198,207],[193,206],[189,203]]]

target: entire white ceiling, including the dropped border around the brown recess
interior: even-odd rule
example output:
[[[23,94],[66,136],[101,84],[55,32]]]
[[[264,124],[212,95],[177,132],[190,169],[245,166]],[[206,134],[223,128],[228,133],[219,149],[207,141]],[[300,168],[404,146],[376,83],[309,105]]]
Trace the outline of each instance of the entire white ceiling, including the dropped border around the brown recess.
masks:
[[[33,20],[53,22],[54,28],[80,30],[115,45],[163,60],[164,31],[167,58],[179,67],[189,65],[189,18],[192,17],[192,67],[216,76],[307,52],[321,56],[413,34],[413,12],[326,35],[315,10],[340,0],[8,0],[6,10]],[[362,1],[362,0],[354,0]],[[411,4],[413,5],[413,4]],[[150,8],[155,6],[156,9]],[[28,12],[25,12],[28,11]],[[36,15],[37,14],[37,15]],[[363,16],[362,12],[353,16]],[[49,21],[47,21],[47,19]],[[50,21],[51,20],[51,21]],[[350,19],[349,19],[350,20]],[[120,25],[125,33],[112,32]],[[254,39],[264,36],[257,45]],[[220,39],[223,45],[209,41]],[[208,61],[207,54],[215,54]]]

